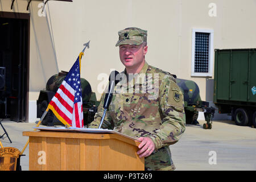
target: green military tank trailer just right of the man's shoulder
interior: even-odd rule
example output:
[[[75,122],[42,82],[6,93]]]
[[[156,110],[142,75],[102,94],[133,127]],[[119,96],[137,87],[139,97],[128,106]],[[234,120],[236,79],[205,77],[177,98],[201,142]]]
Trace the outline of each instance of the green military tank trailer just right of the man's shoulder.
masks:
[[[215,112],[214,107],[209,107],[209,102],[202,101],[200,97],[199,86],[191,80],[176,78],[177,85],[181,88],[184,95],[184,109],[186,123],[196,125],[199,111],[204,112],[204,129],[212,129],[212,118]]]

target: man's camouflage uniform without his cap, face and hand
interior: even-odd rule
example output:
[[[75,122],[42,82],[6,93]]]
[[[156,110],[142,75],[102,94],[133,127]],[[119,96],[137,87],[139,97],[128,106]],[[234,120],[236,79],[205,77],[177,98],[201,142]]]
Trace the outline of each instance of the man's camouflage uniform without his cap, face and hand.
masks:
[[[139,77],[142,78],[142,84],[138,82]],[[115,86],[102,128],[113,129],[134,138],[150,137],[155,144],[155,151],[145,158],[145,169],[174,170],[169,146],[176,143],[185,131],[183,93],[170,73],[147,63],[132,80],[131,84],[132,81],[123,79]],[[143,86],[146,86],[146,92],[138,93],[137,88],[142,91]],[[90,128],[98,128],[103,104],[104,94]]]

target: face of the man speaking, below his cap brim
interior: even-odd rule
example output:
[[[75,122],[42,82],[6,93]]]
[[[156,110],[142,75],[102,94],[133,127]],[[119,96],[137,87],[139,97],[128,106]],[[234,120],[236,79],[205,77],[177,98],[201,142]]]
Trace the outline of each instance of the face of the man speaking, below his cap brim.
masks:
[[[119,46],[120,60],[126,68],[136,69],[139,68],[147,53],[147,46],[143,44],[139,46],[121,45]]]

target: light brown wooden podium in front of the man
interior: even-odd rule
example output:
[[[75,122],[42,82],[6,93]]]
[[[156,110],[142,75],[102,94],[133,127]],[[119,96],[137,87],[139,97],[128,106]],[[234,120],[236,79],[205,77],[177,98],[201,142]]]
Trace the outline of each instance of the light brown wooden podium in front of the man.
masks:
[[[30,170],[143,171],[139,142],[119,134],[24,131]]]

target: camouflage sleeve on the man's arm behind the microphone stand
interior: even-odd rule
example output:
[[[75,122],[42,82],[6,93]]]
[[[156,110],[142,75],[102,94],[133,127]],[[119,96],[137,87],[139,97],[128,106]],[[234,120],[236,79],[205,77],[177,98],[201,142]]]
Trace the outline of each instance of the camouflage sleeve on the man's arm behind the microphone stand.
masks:
[[[97,129],[98,126],[100,126],[101,123],[101,118],[104,112],[104,98],[105,98],[105,94],[103,93],[101,95],[101,100],[100,100],[100,105],[98,106],[98,111],[94,116],[94,121],[92,121],[90,123],[89,128],[90,129]],[[104,118],[104,122],[101,125],[101,129],[113,129],[113,125],[112,125],[112,118],[109,117],[108,115],[108,111],[106,112],[105,118]]]

